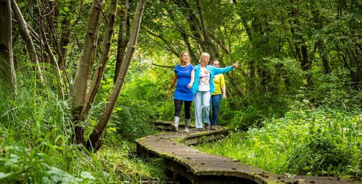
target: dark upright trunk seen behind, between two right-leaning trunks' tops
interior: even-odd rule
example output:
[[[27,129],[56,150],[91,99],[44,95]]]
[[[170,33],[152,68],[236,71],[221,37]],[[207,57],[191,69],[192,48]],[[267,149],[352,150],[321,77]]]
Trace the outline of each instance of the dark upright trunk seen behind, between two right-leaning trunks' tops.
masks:
[[[121,10],[121,23],[119,24],[119,32],[118,32],[116,68],[114,70],[114,79],[113,79],[114,83],[117,81],[118,73],[121,70],[124,51],[126,50],[126,46],[128,43],[128,39],[126,38],[127,19],[128,19],[127,6],[128,6],[128,0],[123,0],[122,10]]]

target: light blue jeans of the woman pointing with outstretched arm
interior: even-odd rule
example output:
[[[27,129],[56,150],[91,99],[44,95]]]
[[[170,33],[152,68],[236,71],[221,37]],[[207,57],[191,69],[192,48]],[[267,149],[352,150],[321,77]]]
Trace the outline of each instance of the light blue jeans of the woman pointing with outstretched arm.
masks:
[[[195,120],[196,128],[202,128],[202,111],[203,120],[205,124],[210,124],[209,113],[210,113],[210,91],[201,92],[197,91],[195,94]]]

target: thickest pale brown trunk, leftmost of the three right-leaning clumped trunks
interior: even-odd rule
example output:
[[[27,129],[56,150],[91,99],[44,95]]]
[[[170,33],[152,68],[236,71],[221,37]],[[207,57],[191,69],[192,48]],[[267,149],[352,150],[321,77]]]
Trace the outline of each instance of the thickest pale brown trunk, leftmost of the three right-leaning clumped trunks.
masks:
[[[99,5],[98,5],[99,2]],[[101,17],[101,8],[105,0],[93,0],[90,9],[90,17],[88,19],[86,38],[84,46],[77,66],[77,73],[74,79],[73,88],[71,90],[72,97],[72,115],[75,121],[78,121],[80,112],[83,108],[84,101],[90,84],[90,74],[92,71],[95,53],[97,48],[97,36]],[[77,124],[77,122],[76,122]],[[78,144],[83,141],[83,128],[76,126],[75,138]]]

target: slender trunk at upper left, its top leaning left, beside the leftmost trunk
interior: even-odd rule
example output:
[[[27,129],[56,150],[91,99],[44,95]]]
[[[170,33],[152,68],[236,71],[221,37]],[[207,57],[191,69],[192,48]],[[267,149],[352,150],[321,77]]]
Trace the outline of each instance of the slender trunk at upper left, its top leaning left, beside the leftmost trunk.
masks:
[[[41,75],[41,69],[39,66],[38,55],[36,53],[33,40],[31,39],[27,23],[21,14],[20,8],[17,6],[15,0],[11,0],[11,9],[14,12],[15,19],[19,25],[20,34],[26,44],[26,49],[29,52],[30,61],[35,63],[36,70],[39,72],[39,79],[43,83],[43,76]]]

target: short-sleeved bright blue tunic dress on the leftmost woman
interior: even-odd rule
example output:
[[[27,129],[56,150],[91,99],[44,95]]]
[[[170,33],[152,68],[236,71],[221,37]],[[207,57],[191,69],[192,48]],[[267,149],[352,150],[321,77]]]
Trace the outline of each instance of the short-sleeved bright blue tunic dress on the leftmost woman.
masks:
[[[191,81],[191,71],[193,70],[193,66],[191,64],[181,67],[181,65],[177,65],[174,69],[174,72],[177,74],[177,85],[175,90],[174,99],[179,99],[183,101],[192,101],[193,100],[193,92],[192,88],[187,88],[187,85]]]

